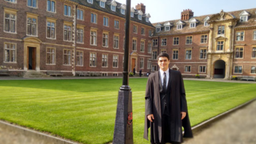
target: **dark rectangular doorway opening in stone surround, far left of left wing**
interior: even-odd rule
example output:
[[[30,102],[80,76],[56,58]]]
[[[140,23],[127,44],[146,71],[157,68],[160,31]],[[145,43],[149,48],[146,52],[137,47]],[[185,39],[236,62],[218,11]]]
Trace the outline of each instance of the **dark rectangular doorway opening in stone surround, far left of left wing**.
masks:
[[[36,70],[36,48],[28,47],[28,56],[27,56],[28,70]]]

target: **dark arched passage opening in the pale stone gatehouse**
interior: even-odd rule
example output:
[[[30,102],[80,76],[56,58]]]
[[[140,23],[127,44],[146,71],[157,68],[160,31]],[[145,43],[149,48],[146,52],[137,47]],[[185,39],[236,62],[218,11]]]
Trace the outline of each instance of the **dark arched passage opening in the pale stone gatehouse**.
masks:
[[[225,78],[225,62],[223,60],[217,60],[215,62],[214,78]]]

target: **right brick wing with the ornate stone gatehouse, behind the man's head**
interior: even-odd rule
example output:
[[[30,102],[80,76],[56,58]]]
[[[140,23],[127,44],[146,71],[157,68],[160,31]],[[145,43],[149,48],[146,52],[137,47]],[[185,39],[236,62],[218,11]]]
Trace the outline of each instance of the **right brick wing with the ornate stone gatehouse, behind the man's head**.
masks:
[[[171,56],[169,67],[184,77],[256,76],[256,9],[199,17],[185,9],[180,20],[153,25],[153,70],[157,54],[166,51]]]

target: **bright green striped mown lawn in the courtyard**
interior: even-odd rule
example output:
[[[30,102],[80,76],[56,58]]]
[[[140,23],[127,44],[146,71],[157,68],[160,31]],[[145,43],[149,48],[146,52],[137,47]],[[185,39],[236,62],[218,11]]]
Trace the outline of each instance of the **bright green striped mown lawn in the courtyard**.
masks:
[[[143,140],[147,79],[130,79],[134,142]],[[121,79],[0,80],[0,119],[87,144],[113,139]],[[255,84],[185,80],[191,124],[256,97]]]

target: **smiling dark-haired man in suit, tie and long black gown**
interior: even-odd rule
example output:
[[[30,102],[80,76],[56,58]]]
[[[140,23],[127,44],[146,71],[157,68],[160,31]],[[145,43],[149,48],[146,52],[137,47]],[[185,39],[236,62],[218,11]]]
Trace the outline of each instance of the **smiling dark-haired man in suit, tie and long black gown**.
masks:
[[[160,69],[148,77],[145,91],[144,138],[148,140],[150,127],[151,144],[183,143],[183,137],[193,137],[183,77],[169,69],[167,53],[159,54],[157,59]]]

